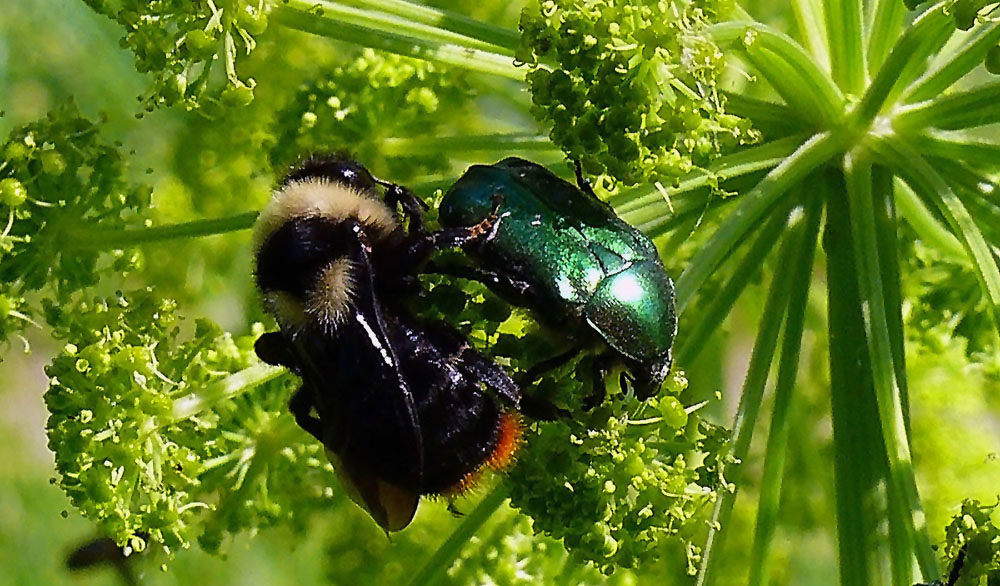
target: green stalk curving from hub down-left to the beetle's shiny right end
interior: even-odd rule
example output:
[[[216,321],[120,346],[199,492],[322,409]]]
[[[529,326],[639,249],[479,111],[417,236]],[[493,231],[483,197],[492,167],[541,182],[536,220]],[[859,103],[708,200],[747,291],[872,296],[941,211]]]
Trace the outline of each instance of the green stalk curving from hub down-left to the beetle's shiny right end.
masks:
[[[678,313],[683,313],[698,289],[726,255],[760,225],[764,215],[777,204],[788,189],[829,161],[841,148],[840,142],[832,135],[817,134],[768,173],[753,190],[740,198],[739,208],[719,226],[677,280]]]

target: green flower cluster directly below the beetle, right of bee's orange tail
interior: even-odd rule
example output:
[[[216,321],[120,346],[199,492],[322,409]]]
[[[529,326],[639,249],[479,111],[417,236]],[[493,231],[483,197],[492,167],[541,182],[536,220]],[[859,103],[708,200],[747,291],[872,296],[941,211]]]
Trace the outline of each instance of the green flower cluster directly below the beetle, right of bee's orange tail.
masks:
[[[658,417],[629,417],[640,409],[613,401],[577,421],[540,423],[510,473],[511,504],[536,533],[561,539],[575,562],[601,572],[672,551],[694,574],[692,519],[723,486],[717,455],[726,435],[706,422],[687,426],[674,394],[659,399]]]

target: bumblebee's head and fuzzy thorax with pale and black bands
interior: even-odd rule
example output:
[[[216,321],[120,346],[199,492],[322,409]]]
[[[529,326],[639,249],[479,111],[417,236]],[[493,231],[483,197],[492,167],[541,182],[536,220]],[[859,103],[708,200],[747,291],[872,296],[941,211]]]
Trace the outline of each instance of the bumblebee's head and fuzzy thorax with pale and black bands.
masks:
[[[295,167],[255,228],[257,286],[269,310],[282,326],[335,327],[351,305],[352,245],[397,228],[360,163],[311,157]]]

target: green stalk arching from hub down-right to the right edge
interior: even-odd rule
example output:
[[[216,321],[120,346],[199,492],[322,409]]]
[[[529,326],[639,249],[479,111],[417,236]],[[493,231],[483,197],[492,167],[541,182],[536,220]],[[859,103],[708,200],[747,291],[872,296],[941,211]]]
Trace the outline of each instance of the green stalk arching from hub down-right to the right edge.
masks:
[[[953,234],[959,237],[969,258],[973,260],[976,275],[989,298],[994,321],[1000,324],[1000,270],[993,259],[993,251],[983,238],[969,211],[959,200],[948,182],[908,144],[892,138],[875,137],[872,149],[913,190],[930,205],[938,208],[948,222]]]

